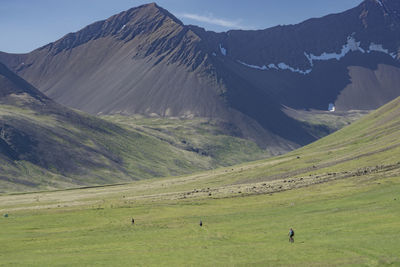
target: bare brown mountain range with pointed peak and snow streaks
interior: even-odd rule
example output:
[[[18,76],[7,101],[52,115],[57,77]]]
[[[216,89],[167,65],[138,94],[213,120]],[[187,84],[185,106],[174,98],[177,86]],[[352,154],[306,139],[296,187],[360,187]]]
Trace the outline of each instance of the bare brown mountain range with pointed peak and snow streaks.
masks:
[[[259,31],[213,33],[148,4],[0,61],[50,98],[92,114],[228,122],[281,153],[315,140],[296,109],[375,109],[400,95],[400,5]]]

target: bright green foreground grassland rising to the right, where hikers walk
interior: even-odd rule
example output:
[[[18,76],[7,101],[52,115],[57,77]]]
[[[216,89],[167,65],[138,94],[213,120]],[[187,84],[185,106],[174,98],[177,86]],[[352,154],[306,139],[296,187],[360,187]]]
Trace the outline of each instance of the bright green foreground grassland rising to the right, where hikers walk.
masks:
[[[128,185],[0,196],[0,212],[8,214],[0,219],[0,262],[400,265],[399,113],[396,99],[269,160]]]

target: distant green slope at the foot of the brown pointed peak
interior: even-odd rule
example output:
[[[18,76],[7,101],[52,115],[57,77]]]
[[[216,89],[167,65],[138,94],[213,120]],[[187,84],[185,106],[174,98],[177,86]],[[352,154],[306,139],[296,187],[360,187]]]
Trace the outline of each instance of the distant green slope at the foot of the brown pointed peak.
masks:
[[[213,167],[235,165],[270,157],[268,150],[256,143],[235,137],[232,125],[205,118],[161,118],[134,116],[102,116],[127,129],[147,134],[186,151],[211,159]]]

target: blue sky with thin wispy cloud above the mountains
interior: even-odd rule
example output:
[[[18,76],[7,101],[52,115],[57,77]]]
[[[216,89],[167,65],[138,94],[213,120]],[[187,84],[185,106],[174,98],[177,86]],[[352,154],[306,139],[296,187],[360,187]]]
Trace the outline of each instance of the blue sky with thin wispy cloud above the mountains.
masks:
[[[0,51],[24,53],[142,0],[0,0]],[[159,0],[185,24],[213,31],[294,24],[355,7],[362,0]]]

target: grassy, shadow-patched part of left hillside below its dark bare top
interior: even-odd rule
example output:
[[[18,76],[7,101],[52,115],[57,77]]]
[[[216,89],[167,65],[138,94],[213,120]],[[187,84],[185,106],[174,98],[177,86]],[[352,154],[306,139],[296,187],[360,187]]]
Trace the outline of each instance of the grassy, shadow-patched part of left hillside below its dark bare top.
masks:
[[[208,158],[67,109],[0,105],[0,121],[15,151],[0,158],[3,192],[127,182],[212,166]]]

